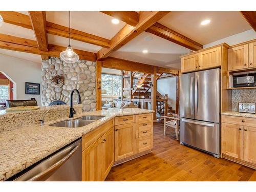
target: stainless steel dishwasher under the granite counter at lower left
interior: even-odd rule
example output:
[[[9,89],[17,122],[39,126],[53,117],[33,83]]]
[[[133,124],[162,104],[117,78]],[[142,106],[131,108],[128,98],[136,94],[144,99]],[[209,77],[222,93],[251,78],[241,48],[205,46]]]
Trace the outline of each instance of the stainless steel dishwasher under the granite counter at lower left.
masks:
[[[61,148],[53,155],[28,167],[12,181],[81,181],[82,139]]]

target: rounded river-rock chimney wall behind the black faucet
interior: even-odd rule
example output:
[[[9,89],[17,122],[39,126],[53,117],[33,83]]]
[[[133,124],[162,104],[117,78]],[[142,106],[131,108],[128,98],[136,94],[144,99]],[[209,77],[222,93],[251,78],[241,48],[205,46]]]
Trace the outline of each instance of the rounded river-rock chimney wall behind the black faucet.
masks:
[[[96,109],[96,62],[78,60],[75,63],[66,63],[60,58],[51,57],[42,60],[42,99],[43,106],[54,100],[62,100],[70,104],[70,93],[78,89],[83,103],[83,111]],[[52,78],[56,75],[64,77],[64,84],[57,87]],[[73,102],[78,102],[78,95],[74,93]]]

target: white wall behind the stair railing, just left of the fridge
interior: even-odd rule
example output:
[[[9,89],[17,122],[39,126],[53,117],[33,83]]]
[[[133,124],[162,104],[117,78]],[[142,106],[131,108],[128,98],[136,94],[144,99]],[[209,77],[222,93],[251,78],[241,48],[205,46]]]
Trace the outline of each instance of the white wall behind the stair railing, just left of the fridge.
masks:
[[[163,96],[168,94],[168,103],[176,110],[176,77],[158,79],[157,91]]]

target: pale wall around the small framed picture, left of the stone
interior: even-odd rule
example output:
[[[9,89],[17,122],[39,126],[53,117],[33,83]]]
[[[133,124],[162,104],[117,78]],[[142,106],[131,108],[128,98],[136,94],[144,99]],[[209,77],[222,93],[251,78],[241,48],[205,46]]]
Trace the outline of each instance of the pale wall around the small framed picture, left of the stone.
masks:
[[[41,63],[0,54],[0,71],[13,82],[14,100],[34,97],[41,105],[41,95],[25,94],[25,82],[41,83]]]

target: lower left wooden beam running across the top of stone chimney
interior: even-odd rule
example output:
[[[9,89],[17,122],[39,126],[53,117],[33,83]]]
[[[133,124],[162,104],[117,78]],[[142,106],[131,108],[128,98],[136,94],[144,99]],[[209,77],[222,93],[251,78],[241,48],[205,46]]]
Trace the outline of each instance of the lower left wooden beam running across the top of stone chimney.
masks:
[[[37,55],[44,55],[44,57],[45,56],[59,57],[60,52],[66,49],[66,47],[49,44],[48,51],[41,51],[38,47],[33,47],[35,44],[37,44],[37,42],[34,40],[24,39],[20,37],[11,36],[11,35],[8,35],[8,39],[5,38],[5,40],[2,40],[2,39],[0,40],[1,49],[33,53]],[[74,49],[74,51],[79,55],[80,59],[86,59],[91,61],[96,60],[95,53],[77,50],[77,49]]]

